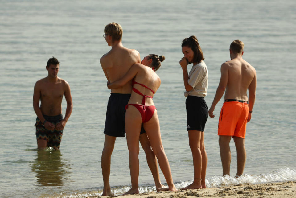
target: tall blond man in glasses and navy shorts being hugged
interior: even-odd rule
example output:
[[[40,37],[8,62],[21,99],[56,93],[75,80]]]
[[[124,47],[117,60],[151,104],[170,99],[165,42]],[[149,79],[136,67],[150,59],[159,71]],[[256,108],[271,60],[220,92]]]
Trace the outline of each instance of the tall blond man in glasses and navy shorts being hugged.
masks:
[[[138,51],[123,47],[121,43],[122,28],[118,23],[109,23],[104,29],[103,35],[111,50],[104,54],[100,63],[105,76],[109,82],[114,82],[122,78],[133,64],[141,63]],[[132,92],[132,82],[124,86],[112,89],[109,97],[105,121],[105,142],[102,151],[101,167],[103,174],[103,194],[102,196],[113,195],[109,184],[111,155],[116,137],[125,137],[125,105],[127,105]],[[150,142],[142,128],[140,143],[146,154],[148,166],[152,172],[157,191],[164,186],[159,179],[156,157],[151,150]]]

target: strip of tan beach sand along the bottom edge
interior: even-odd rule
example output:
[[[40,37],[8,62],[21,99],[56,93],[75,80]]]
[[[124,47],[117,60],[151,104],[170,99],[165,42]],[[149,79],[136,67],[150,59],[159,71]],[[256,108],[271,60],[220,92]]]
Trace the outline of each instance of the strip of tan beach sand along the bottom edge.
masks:
[[[88,196],[98,198],[100,196]],[[104,197],[120,198],[191,198],[191,197],[296,197],[296,181],[275,182],[264,184],[246,184],[224,186],[219,188],[206,188],[198,190],[180,190],[179,192],[149,192],[137,195],[114,195]]]

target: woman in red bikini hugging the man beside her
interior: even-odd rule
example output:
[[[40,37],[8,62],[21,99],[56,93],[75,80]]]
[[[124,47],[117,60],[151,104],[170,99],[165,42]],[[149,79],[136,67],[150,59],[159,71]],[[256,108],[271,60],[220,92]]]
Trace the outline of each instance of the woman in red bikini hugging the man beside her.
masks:
[[[164,56],[150,54],[145,56],[141,61],[142,64],[134,64],[130,70],[120,80],[111,84],[108,83],[109,89],[121,87],[133,79],[133,91],[131,93],[125,113],[125,131],[127,146],[129,149],[130,175],[132,187],[125,194],[136,194],[138,190],[139,178],[139,136],[141,126],[148,135],[154,154],[158,159],[159,166],[167,181],[168,189],[178,191],[175,187],[171,175],[171,169],[164,152],[157,110],[154,106],[152,97],[160,86],[161,80],[155,71],[160,67]]]

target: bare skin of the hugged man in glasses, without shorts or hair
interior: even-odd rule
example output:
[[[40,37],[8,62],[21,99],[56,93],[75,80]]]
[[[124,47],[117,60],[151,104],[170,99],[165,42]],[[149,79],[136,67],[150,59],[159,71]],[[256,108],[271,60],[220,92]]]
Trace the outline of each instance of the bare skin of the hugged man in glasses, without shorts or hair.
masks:
[[[140,54],[136,50],[124,47],[121,40],[112,39],[112,36],[106,32],[104,38],[108,46],[111,46],[111,50],[101,57],[100,63],[107,80],[109,82],[114,82],[122,78],[122,76],[130,69],[132,65],[141,62]],[[111,93],[126,94],[131,92],[131,80],[122,87],[111,90]],[[113,195],[109,184],[109,176],[111,155],[114,149],[115,140],[116,137],[105,134],[105,143],[101,157],[101,168],[104,182],[102,196]],[[160,191],[164,186],[161,184],[159,179],[157,159],[151,150],[147,134],[141,134],[139,140],[143,150],[145,151],[147,163],[155,181],[156,190]]]

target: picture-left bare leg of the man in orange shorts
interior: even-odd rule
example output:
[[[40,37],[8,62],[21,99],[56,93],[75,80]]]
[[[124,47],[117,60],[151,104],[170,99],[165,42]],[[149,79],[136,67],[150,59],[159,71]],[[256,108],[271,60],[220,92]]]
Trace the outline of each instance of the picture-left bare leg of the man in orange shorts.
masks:
[[[230,175],[230,162],[231,162],[231,152],[229,147],[229,142],[231,136],[229,135],[219,135],[219,146],[220,146],[220,157],[223,168],[223,176]]]

